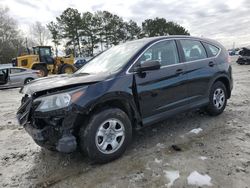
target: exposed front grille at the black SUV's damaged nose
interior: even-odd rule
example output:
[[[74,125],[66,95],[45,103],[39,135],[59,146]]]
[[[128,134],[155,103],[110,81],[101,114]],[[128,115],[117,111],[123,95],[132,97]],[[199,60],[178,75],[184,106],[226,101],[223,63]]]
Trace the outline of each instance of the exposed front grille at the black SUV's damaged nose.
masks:
[[[17,119],[20,125],[25,125],[29,120],[30,109],[32,105],[32,98],[25,96],[22,99],[22,104],[17,110]]]

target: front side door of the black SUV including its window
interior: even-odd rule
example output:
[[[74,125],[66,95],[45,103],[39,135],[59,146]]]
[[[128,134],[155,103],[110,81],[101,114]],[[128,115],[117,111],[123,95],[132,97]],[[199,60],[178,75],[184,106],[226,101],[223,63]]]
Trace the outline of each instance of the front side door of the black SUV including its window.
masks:
[[[143,124],[164,119],[188,103],[186,65],[180,63],[175,40],[155,43],[141,54],[135,66],[147,60],[159,61],[161,68],[134,73]]]

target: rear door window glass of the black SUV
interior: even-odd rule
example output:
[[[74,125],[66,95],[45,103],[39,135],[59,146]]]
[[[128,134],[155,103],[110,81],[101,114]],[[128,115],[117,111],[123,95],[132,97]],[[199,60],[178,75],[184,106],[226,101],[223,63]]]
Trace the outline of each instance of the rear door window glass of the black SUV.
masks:
[[[195,61],[207,58],[205,48],[200,41],[180,40],[186,61]]]

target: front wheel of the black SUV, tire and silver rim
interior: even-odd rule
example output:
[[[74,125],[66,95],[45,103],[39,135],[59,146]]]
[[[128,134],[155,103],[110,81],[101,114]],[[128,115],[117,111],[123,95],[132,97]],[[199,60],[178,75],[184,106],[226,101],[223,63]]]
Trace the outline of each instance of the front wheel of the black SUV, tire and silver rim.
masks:
[[[124,111],[105,109],[90,118],[79,137],[83,154],[95,163],[107,163],[125,152],[132,139],[132,126]]]

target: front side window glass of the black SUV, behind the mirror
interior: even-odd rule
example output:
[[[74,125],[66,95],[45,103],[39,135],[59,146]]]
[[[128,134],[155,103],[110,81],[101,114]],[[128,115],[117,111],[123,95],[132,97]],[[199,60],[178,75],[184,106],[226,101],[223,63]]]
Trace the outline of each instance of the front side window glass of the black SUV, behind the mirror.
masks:
[[[142,54],[138,63],[142,64],[148,60],[158,60],[161,63],[161,66],[179,63],[175,41],[166,40],[154,44]]]

